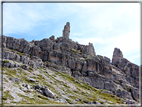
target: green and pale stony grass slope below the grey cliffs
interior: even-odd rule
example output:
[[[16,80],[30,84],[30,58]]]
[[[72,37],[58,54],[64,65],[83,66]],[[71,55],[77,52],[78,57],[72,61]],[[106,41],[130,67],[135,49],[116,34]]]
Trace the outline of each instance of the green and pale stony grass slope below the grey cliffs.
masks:
[[[37,74],[34,72],[38,72]],[[16,104],[64,104],[58,102],[57,99],[65,99],[69,104],[85,104],[86,102],[91,102],[94,100],[101,102],[98,99],[106,100],[106,103],[122,103],[122,101],[114,96],[107,93],[102,93],[102,90],[98,90],[94,87],[81,83],[79,80],[69,76],[68,74],[63,74],[61,72],[54,72],[49,69],[40,68],[37,70],[25,71],[21,68],[3,68],[4,81],[8,82],[8,78],[19,78],[20,82],[13,82],[16,87],[21,89],[22,83],[26,83],[30,86],[35,86],[36,84],[47,86],[52,92],[56,94],[55,99],[50,99],[43,96],[36,90],[26,92],[27,95],[22,95],[17,93],[22,100],[19,102],[14,102],[13,97],[9,94],[9,91],[4,91],[3,101],[6,104],[6,100],[10,100],[11,103]],[[30,82],[28,77],[34,78],[37,82]],[[62,91],[62,93],[61,93]],[[28,93],[32,93],[33,97],[28,97]],[[64,93],[64,94],[63,94]],[[64,97],[65,95],[66,97]],[[75,101],[78,99],[78,101]],[[111,102],[109,102],[111,101]]]

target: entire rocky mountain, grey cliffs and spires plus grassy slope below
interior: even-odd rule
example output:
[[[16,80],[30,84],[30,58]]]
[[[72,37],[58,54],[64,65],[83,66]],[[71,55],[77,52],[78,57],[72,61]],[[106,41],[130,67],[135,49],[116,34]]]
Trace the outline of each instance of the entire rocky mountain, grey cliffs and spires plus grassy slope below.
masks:
[[[138,65],[118,48],[110,63],[69,36],[69,22],[56,39],[2,36],[4,104],[140,104]]]

